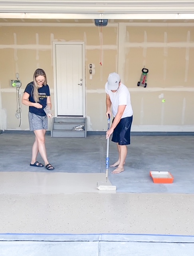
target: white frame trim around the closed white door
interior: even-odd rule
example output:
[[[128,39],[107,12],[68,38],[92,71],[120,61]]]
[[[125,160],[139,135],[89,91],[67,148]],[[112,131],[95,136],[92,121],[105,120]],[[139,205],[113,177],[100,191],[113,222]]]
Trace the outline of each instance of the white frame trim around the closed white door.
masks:
[[[56,46],[57,45],[81,45],[83,59],[83,117],[85,118],[85,42],[53,42],[53,88],[54,88],[54,106],[55,117],[58,116],[57,110],[57,76],[56,76]]]

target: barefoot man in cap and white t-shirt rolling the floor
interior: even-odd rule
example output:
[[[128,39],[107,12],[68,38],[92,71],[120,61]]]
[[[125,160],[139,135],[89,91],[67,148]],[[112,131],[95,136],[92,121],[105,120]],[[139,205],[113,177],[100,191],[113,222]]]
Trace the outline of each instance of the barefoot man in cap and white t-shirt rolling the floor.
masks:
[[[119,74],[109,74],[105,84],[107,118],[111,116],[111,105],[113,112],[113,123],[107,131],[106,138],[113,133],[112,141],[117,143],[119,159],[112,167],[118,166],[112,173],[117,174],[124,171],[125,158],[127,156],[127,145],[130,144],[131,124],[133,121],[133,110],[131,107],[130,93],[127,87],[121,83]]]

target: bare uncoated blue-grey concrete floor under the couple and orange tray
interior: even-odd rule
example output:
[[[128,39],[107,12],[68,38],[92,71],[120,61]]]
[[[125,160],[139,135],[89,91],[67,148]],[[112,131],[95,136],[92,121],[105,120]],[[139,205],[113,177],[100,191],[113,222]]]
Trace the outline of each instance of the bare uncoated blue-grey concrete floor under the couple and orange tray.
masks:
[[[0,134],[0,170],[3,172],[45,172],[29,166],[33,134]],[[51,138],[46,135],[48,159],[53,172],[105,173],[105,136]],[[109,164],[117,160],[117,146],[109,143]],[[39,156],[38,161],[42,162]],[[194,136],[131,136],[125,171],[111,174],[109,180],[123,193],[194,194]],[[172,184],[154,184],[149,171],[168,171]]]

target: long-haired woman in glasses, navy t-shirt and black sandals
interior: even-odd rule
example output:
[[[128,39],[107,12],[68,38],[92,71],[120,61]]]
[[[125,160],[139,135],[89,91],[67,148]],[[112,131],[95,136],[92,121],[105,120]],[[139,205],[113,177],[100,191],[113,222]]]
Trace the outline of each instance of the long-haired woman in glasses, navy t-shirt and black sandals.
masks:
[[[45,133],[48,128],[48,118],[51,115],[46,115],[44,108],[47,106],[51,109],[51,96],[49,86],[47,84],[47,77],[44,70],[38,68],[34,72],[33,82],[30,82],[24,90],[22,103],[29,106],[28,119],[30,124],[30,131],[35,133],[35,142],[32,146],[32,160],[30,166],[44,167],[36,158],[38,152],[42,156],[47,170],[53,170],[54,167],[49,164],[45,147]]]

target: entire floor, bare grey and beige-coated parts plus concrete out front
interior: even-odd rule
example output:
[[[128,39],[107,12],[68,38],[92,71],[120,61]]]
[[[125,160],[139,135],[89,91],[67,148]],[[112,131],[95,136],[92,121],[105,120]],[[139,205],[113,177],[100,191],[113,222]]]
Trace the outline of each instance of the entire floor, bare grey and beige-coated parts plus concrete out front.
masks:
[[[29,166],[33,142],[33,134],[0,134],[1,256],[193,254],[194,136],[131,136],[125,171],[109,168],[116,192],[96,188],[105,136],[47,135],[51,173]],[[109,158],[117,160],[111,141]],[[150,170],[174,182],[155,184]]]

